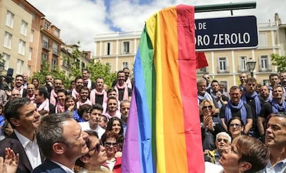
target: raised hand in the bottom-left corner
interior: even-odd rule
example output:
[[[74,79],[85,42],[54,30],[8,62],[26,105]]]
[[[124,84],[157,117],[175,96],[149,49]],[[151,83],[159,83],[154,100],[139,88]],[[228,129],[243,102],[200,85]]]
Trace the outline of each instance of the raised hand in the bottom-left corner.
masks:
[[[15,152],[6,147],[5,149],[5,161],[3,157],[0,157],[0,173],[15,173],[19,165],[19,154],[15,155]]]

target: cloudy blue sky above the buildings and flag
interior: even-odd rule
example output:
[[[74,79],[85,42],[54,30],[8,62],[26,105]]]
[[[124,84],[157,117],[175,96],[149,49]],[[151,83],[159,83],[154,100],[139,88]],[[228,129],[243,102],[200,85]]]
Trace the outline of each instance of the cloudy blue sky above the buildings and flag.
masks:
[[[225,0],[27,0],[61,30],[64,43],[81,42],[82,50],[94,52],[97,34],[142,30],[144,21],[158,10],[178,4],[202,6],[229,3]],[[253,0],[245,0],[253,1]],[[233,3],[242,2],[233,0]],[[269,3],[271,2],[271,3]],[[274,21],[278,12],[286,23],[286,0],[257,0],[256,9],[234,10],[233,14],[255,15],[258,23]],[[229,11],[196,13],[196,19],[230,17]]]

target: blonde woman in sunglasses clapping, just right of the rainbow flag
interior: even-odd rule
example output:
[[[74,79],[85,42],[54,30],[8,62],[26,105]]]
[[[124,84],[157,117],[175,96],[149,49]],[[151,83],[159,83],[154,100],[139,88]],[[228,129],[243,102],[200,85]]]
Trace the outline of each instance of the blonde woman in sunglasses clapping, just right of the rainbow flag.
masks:
[[[202,147],[204,150],[215,150],[216,134],[224,132],[222,121],[214,117],[216,107],[209,99],[204,99],[200,103],[200,127],[202,132]]]

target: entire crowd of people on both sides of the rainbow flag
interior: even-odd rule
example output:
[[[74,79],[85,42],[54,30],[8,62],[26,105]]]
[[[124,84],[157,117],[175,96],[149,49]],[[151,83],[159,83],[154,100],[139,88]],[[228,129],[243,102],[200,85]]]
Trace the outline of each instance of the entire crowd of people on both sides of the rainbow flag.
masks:
[[[111,88],[88,70],[66,90],[46,75],[17,75],[0,90],[0,173],[122,172],[122,148],[131,105],[130,70],[117,72]],[[286,171],[286,72],[271,85],[240,74],[225,85],[209,74],[197,81],[206,172]]]

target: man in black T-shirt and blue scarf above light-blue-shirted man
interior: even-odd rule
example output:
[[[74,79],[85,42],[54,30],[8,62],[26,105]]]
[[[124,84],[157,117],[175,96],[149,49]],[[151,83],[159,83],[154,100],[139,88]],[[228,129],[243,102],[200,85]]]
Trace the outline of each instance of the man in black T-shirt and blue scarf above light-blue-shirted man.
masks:
[[[286,113],[286,101],[283,99],[283,94],[283,86],[275,85],[272,92],[273,99],[261,108],[257,123],[260,136],[263,137],[265,134],[265,121],[271,113]]]

